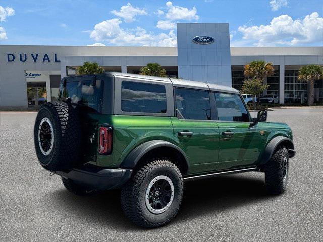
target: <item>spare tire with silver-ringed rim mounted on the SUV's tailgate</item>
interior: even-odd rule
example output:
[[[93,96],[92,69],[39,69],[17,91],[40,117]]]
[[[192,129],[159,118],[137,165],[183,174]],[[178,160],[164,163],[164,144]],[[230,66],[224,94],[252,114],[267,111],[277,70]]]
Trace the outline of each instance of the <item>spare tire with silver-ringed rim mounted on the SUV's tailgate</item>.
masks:
[[[34,127],[37,158],[46,170],[69,170],[79,161],[81,129],[78,112],[70,102],[41,106]]]

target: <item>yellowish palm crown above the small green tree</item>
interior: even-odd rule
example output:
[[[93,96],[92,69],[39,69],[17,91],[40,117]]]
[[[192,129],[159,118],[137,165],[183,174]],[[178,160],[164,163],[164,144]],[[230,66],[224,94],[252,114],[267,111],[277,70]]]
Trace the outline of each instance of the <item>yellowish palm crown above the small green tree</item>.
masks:
[[[265,77],[272,76],[274,74],[274,67],[271,62],[265,62],[262,60],[251,61],[244,66],[244,75],[246,77],[257,78],[263,81]]]

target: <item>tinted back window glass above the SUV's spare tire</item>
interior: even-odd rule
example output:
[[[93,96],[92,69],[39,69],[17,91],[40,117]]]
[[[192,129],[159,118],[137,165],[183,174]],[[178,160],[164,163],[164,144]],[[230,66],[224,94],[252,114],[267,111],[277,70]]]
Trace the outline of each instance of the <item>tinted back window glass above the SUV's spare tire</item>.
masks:
[[[96,80],[95,86],[92,81],[67,82],[62,89],[60,100],[71,99],[71,103],[88,107],[91,111],[102,111],[103,84],[102,80]]]

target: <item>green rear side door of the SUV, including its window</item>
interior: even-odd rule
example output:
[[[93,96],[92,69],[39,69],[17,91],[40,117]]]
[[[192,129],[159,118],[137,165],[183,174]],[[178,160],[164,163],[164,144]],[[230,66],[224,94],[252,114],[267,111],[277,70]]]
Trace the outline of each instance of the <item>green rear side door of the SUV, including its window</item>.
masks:
[[[219,130],[211,120],[210,97],[206,90],[175,88],[176,117],[172,117],[174,139],[185,152],[188,173],[216,169],[219,152]]]

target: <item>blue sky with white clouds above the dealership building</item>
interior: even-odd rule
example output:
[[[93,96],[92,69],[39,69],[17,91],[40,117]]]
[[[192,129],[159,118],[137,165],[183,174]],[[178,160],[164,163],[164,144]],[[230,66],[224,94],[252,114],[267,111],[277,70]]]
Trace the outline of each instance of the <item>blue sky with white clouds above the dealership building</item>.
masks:
[[[231,46],[322,46],[319,0],[0,1],[0,44],[176,46],[176,23],[229,23]]]

